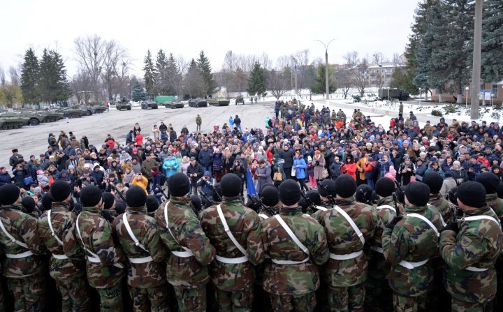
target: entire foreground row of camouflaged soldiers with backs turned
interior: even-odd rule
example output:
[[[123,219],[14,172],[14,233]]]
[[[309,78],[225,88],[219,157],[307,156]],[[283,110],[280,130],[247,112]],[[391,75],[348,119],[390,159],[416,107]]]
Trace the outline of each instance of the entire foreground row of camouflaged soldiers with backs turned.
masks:
[[[302,193],[291,179],[263,186],[257,214],[242,205],[240,178],[226,174],[223,200],[197,215],[190,181],[177,173],[168,179],[170,200],[152,216],[145,191],[133,186],[126,212],[111,224],[96,186],[82,188],[76,215],[68,184],[54,182],[52,209],[37,220],[22,211],[19,188],[7,184],[0,187],[3,276],[15,311],[43,309],[47,253],[63,311],[89,311],[88,285],[101,311],[122,311],[126,275],[134,311],[168,311],[167,283],[179,311],[214,311],[206,304],[210,280],[218,311],[251,311],[254,296],[265,311],[314,311],[316,302],[319,311],[390,311],[391,303],[416,311],[437,295],[435,272],[443,270],[453,311],[483,311],[497,290],[503,234],[495,209],[503,205],[488,205],[486,193],[495,190],[482,178],[459,186],[462,218],[432,191],[435,176],[409,184],[403,200],[381,178],[370,206],[355,200],[347,174],[321,182],[312,214],[298,205]]]

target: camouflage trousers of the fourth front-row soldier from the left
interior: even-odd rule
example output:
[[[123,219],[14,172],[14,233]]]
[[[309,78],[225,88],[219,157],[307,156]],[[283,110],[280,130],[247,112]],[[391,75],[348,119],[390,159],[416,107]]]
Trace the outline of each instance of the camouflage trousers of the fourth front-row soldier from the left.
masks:
[[[133,311],[167,312],[168,285],[163,284],[149,288],[128,286],[129,295],[133,299]]]

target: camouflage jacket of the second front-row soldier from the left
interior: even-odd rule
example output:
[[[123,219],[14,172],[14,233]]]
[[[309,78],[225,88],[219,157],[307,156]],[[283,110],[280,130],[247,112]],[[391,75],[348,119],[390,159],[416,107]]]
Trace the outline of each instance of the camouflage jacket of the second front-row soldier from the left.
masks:
[[[75,214],[68,211],[70,205],[66,202],[52,202],[51,224],[63,245],[52,236],[48,222],[48,211],[38,218],[38,235],[45,247],[54,255],[66,255],[68,259],[50,259],[50,276],[57,281],[69,281],[85,278],[84,251],[78,244],[75,234]]]

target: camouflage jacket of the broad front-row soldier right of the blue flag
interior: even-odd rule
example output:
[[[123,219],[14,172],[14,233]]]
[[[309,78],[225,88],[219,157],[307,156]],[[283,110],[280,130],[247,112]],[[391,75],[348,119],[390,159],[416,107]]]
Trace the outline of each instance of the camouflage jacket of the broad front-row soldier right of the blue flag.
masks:
[[[319,288],[319,272],[316,265],[322,265],[328,260],[325,230],[314,218],[302,214],[300,207],[282,208],[279,216],[307,247],[310,259],[297,265],[277,265],[268,262],[264,271],[263,288],[277,295],[305,295],[314,292]],[[268,218],[262,224],[264,250],[271,259],[302,261],[308,257],[293,242],[276,218]]]

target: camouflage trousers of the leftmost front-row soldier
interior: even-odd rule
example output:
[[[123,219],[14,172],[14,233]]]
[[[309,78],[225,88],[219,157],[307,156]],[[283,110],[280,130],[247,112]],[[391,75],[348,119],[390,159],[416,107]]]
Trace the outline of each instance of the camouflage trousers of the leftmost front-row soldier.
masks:
[[[7,287],[14,297],[14,312],[43,311],[45,279],[37,274],[27,278],[7,278]]]

